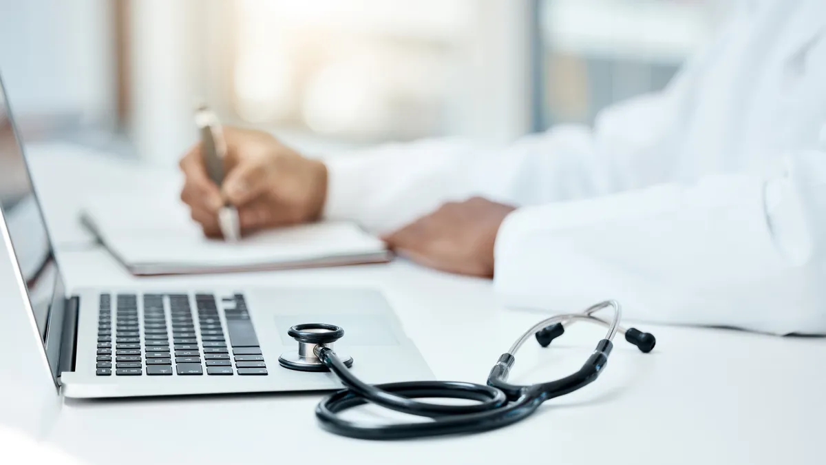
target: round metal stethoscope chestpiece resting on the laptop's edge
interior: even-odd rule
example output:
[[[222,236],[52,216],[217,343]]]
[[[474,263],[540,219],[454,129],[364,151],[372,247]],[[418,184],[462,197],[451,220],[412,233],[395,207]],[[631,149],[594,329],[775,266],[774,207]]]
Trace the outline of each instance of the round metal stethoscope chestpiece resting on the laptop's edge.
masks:
[[[333,348],[333,343],[344,337],[344,329],[335,324],[306,323],[293,326],[287,334],[298,342],[298,350],[284,352],[278,357],[282,367],[299,372],[329,372],[330,368],[316,355],[316,348]],[[353,366],[353,357],[336,355],[345,366]]]

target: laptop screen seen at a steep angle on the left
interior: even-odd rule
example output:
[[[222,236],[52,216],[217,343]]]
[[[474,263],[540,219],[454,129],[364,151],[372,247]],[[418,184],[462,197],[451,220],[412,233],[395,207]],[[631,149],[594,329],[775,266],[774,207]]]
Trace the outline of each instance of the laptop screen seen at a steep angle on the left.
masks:
[[[63,283],[46,231],[40,204],[32,185],[21,141],[12,119],[7,94],[0,80],[0,210],[25,283],[40,341],[57,375],[59,334],[63,322]],[[59,314],[58,314],[59,313]],[[55,318],[58,317],[58,318]],[[48,343],[47,343],[48,342]]]

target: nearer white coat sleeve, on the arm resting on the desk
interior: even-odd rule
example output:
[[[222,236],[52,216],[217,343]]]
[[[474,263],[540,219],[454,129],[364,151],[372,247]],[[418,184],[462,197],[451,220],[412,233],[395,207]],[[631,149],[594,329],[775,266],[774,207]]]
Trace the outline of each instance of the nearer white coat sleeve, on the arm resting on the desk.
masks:
[[[714,175],[526,207],[496,238],[509,307],[572,311],[615,299],[625,317],[826,333],[826,153],[786,174]]]

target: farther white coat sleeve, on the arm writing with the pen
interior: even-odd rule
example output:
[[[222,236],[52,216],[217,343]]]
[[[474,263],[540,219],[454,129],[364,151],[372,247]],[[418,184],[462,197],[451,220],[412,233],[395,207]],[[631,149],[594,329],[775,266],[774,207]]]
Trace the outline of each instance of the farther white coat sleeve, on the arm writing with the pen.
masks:
[[[328,156],[328,219],[373,232],[399,228],[447,200],[473,195],[515,206],[632,189],[667,179],[665,150],[675,114],[653,93],[605,110],[594,128],[565,124],[506,146],[444,138]]]

